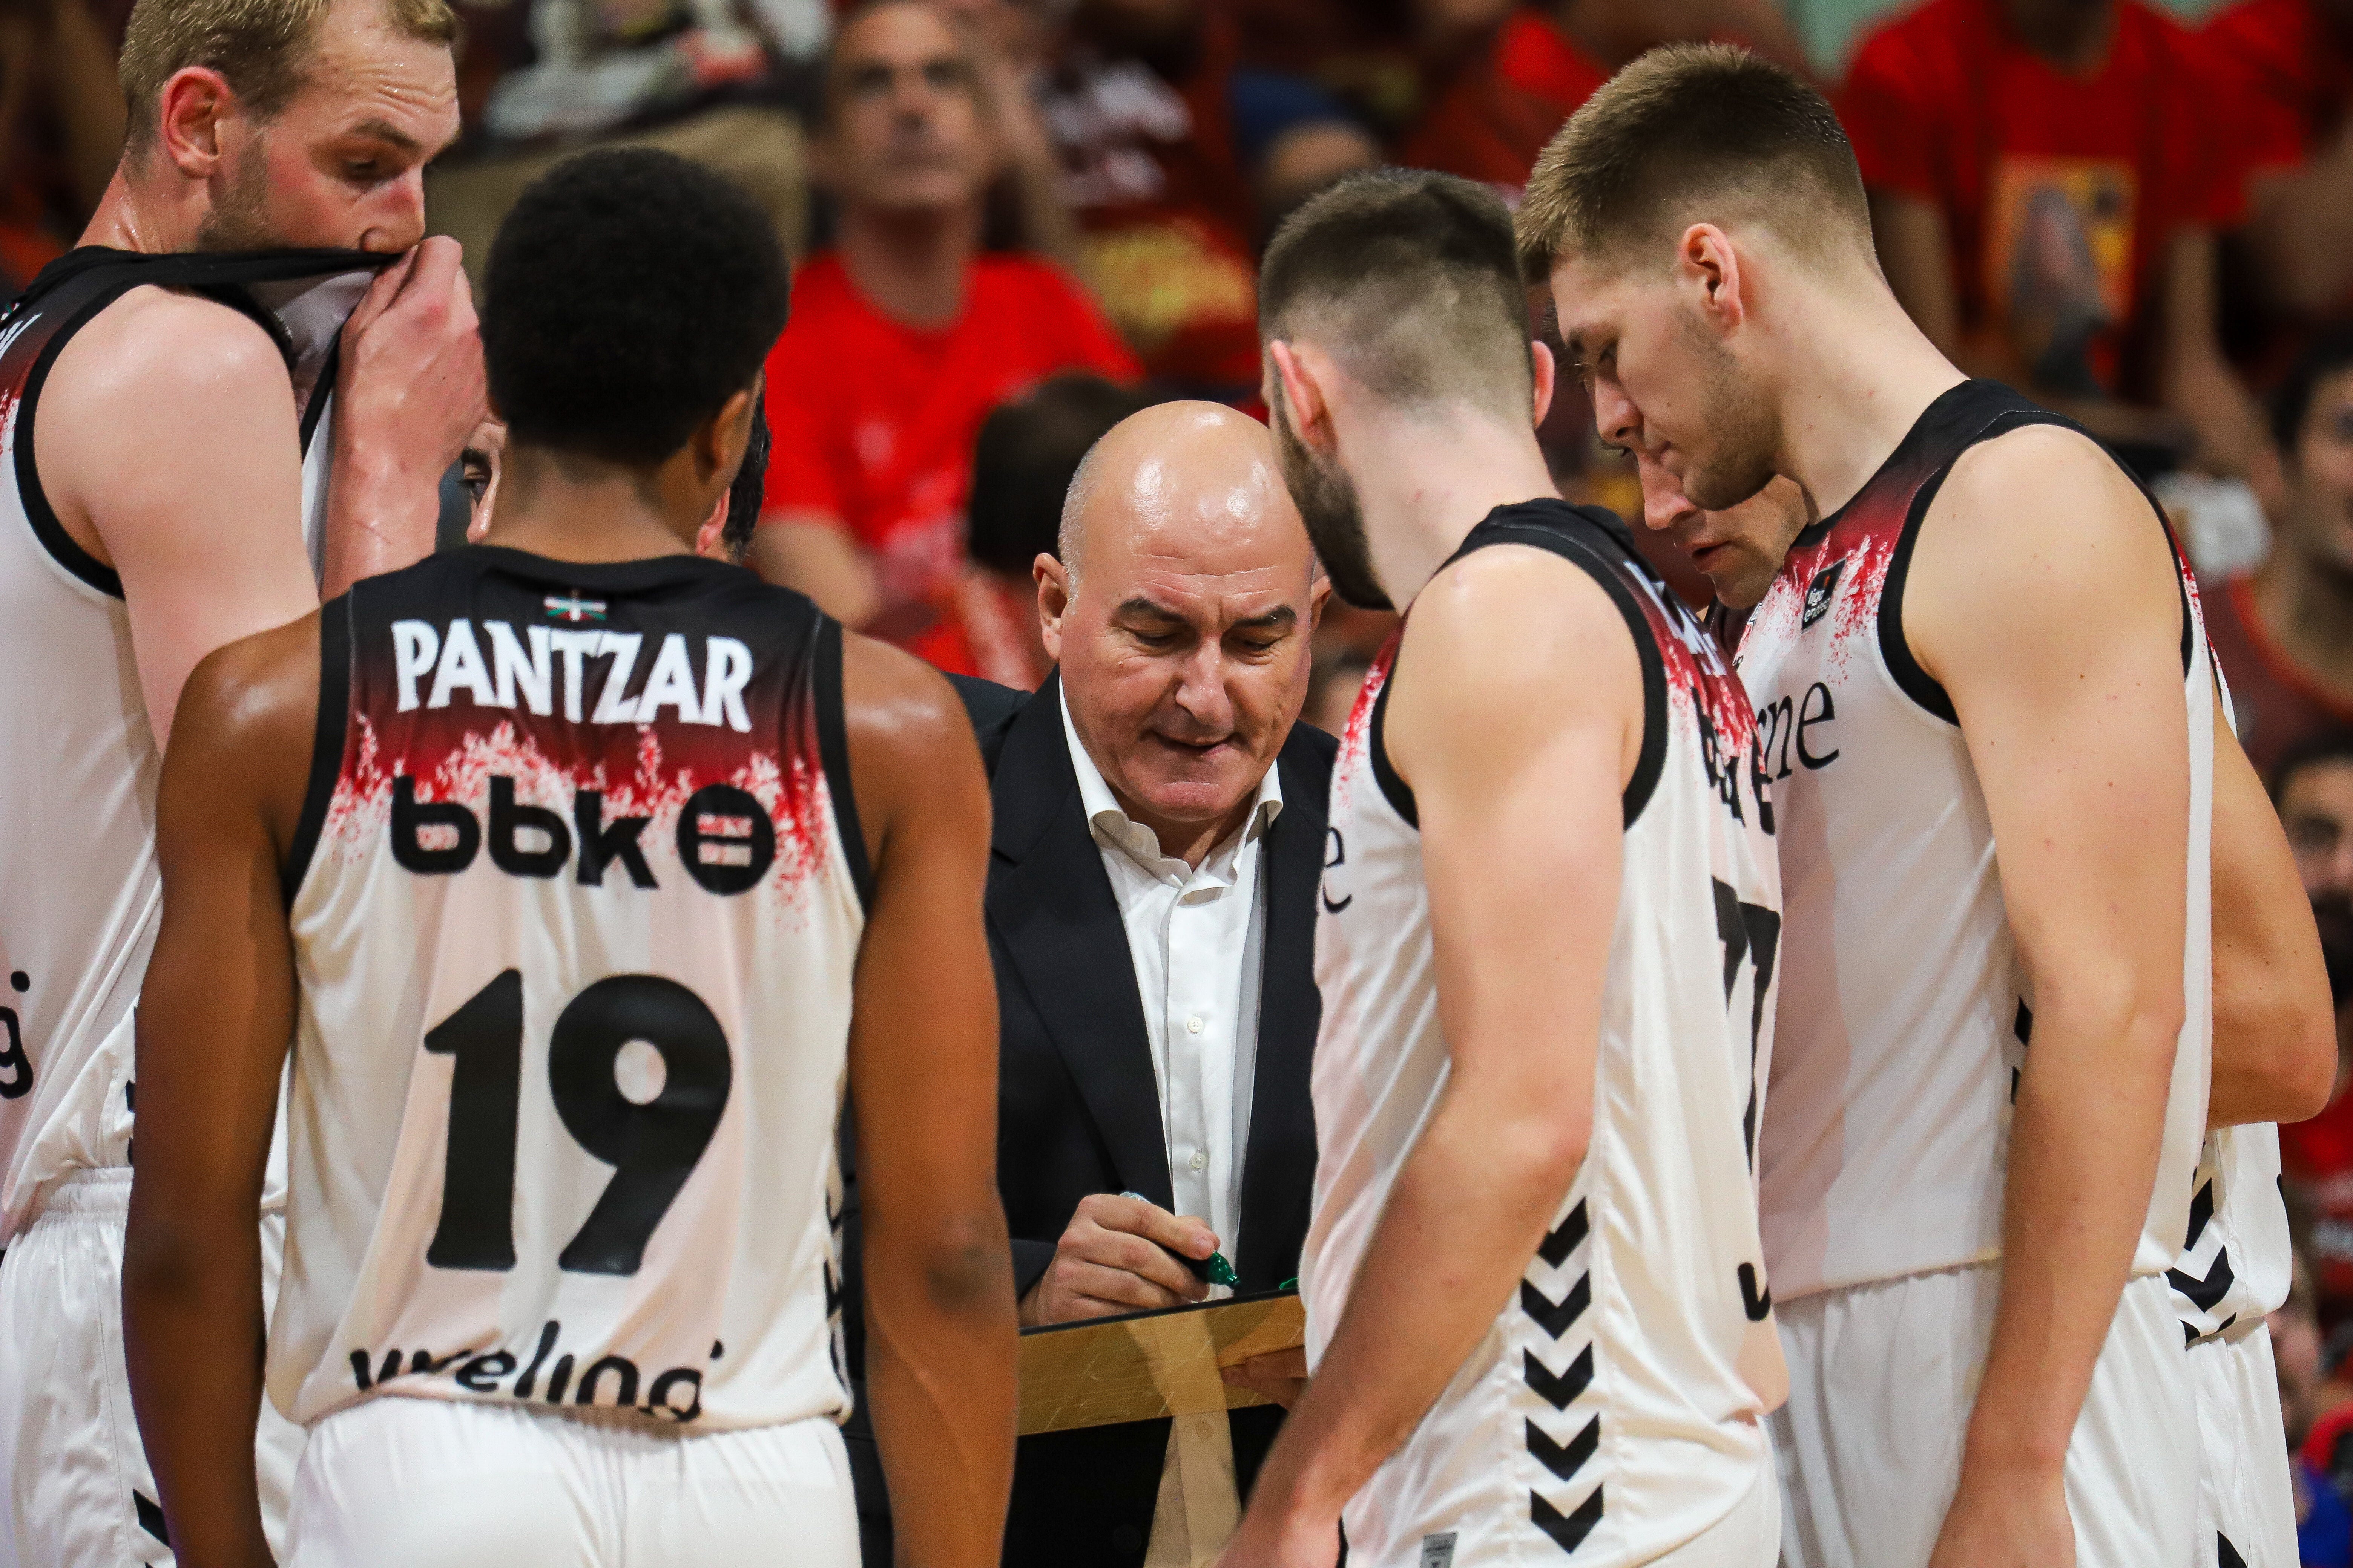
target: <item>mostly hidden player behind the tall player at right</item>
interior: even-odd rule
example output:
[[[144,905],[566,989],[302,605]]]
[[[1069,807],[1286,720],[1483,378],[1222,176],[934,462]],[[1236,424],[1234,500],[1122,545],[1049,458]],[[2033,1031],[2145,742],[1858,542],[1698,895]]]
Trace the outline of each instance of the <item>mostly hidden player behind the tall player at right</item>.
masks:
[[[1649,456],[1635,461],[1645,522],[1708,574],[1725,618],[1746,621],[1807,522],[1805,498],[1774,480],[1725,512],[1701,512],[1675,475]],[[2327,1100],[2337,1030],[2311,903],[2264,783],[2231,733],[2228,703],[2214,708],[2212,867],[2212,1131],[2191,1178],[2188,1246],[2167,1269],[2198,1385],[2198,1544],[2207,1568],[2294,1568],[2287,1432],[2264,1326],[2287,1300],[2292,1267],[2271,1124],[2301,1121]]]

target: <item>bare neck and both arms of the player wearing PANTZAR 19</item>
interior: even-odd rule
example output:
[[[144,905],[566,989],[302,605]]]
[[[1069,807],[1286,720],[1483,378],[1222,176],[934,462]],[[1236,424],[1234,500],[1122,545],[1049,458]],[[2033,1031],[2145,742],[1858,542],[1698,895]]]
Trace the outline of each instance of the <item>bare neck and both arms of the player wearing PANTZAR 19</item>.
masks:
[[[508,447],[489,543],[555,559],[692,550],[751,428],[732,397],[652,475],[579,480]],[[993,1568],[1012,1486],[1014,1314],[995,1192],[995,985],[981,929],[988,785],[962,705],[906,654],[845,637],[849,773],[875,893],[849,1093],[866,1215],[868,1396],[904,1561]],[[162,933],[148,969],[125,1338],[139,1427],[188,1568],[268,1563],[249,1448],[261,1401],[252,1225],[296,978],[278,865],[318,712],[318,616],[212,654],[165,762]]]

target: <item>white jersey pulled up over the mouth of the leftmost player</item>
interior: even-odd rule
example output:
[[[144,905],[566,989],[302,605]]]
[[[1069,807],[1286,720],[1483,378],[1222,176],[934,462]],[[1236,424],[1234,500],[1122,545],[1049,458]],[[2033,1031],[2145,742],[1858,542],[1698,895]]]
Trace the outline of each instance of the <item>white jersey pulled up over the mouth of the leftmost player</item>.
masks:
[[[367,277],[344,254],[78,249],[0,313],[0,621],[14,639],[0,661],[0,969],[9,987],[0,992],[0,1244],[56,1178],[129,1164],[132,1006],[162,910],[160,757],[122,581],[66,534],[40,487],[33,423],[42,383],[75,331],[129,289],[155,284],[252,315],[287,353],[301,390],[332,388],[322,362]],[[311,395],[301,425],[313,538],[325,505],[327,402],[325,390]]]

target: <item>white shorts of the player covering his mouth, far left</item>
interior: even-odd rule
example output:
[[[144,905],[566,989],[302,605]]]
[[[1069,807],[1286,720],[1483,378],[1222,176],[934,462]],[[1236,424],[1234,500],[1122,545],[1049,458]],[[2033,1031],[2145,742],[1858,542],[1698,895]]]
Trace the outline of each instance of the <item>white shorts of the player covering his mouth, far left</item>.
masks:
[[[0,1260],[0,1561],[31,1568],[169,1563],[122,1361],[127,1168],[59,1182]],[[278,1298],[285,1215],[261,1218],[264,1307]],[[301,1427],[268,1401],[254,1434],[261,1523],[285,1540]]]

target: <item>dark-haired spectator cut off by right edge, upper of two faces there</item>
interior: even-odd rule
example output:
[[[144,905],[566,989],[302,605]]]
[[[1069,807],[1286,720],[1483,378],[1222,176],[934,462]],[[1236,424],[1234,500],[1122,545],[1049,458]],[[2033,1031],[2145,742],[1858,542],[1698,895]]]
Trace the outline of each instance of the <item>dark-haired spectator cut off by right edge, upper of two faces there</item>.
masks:
[[[2271,555],[2205,595],[2240,745],[2271,771],[2353,724],[2353,329],[2318,339],[2273,395],[2285,473]]]

